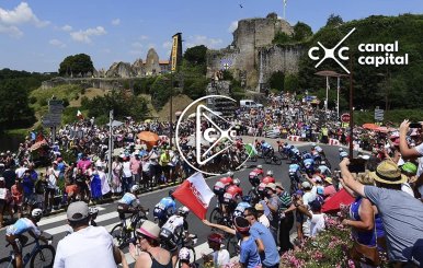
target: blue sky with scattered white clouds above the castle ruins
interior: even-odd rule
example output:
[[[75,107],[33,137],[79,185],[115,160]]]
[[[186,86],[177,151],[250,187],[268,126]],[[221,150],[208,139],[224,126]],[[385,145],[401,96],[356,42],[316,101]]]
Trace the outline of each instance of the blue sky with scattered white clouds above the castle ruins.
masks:
[[[0,69],[57,71],[65,57],[80,53],[108,69],[145,60],[150,47],[169,59],[178,32],[184,49],[224,48],[238,20],[271,12],[282,16],[283,0],[0,0]],[[350,21],[422,12],[423,0],[287,0],[286,20],[316,32],[331,13]]]

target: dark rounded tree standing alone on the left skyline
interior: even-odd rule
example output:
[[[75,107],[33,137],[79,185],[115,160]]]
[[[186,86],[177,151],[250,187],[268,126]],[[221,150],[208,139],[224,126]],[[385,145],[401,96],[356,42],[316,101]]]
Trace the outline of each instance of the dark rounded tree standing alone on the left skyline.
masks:
[[[91,61],[91,57],[87,54],[77,54],[68,56],[60,62],[59,74],[60,75],[85,75],[88,72],[93,73],[94,66]]]

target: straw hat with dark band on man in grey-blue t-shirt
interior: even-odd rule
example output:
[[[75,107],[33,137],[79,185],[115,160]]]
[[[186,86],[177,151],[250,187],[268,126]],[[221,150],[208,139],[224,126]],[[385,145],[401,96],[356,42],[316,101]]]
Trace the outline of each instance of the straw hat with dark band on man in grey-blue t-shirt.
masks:
[[[390,160],[381,162],[376,167],[376,172],[370,172],[369,176],[384,184],[403,184],[407,182],[407,176],[401,174],[398,165]]]

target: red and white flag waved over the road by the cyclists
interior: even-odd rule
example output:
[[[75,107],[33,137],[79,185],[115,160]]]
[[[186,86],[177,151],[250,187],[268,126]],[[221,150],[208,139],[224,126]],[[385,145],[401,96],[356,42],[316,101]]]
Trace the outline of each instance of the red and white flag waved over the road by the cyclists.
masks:
[[[206,219],[207,208],[215,194],[210,190],[203,174],[197,172],[181,184],[172,195],[186,206],[201,220]]]

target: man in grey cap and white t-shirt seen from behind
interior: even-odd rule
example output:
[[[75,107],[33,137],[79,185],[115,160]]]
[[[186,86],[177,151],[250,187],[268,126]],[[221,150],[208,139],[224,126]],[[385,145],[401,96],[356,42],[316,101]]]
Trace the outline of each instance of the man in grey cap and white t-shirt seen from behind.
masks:
[[[113,267],[122,263],[128,267],[125,255],[113,244],[113,237],[103,226],[91,226],[88,205],[72,202],[67,211],[73,233],[57,244],[55,268]]]

